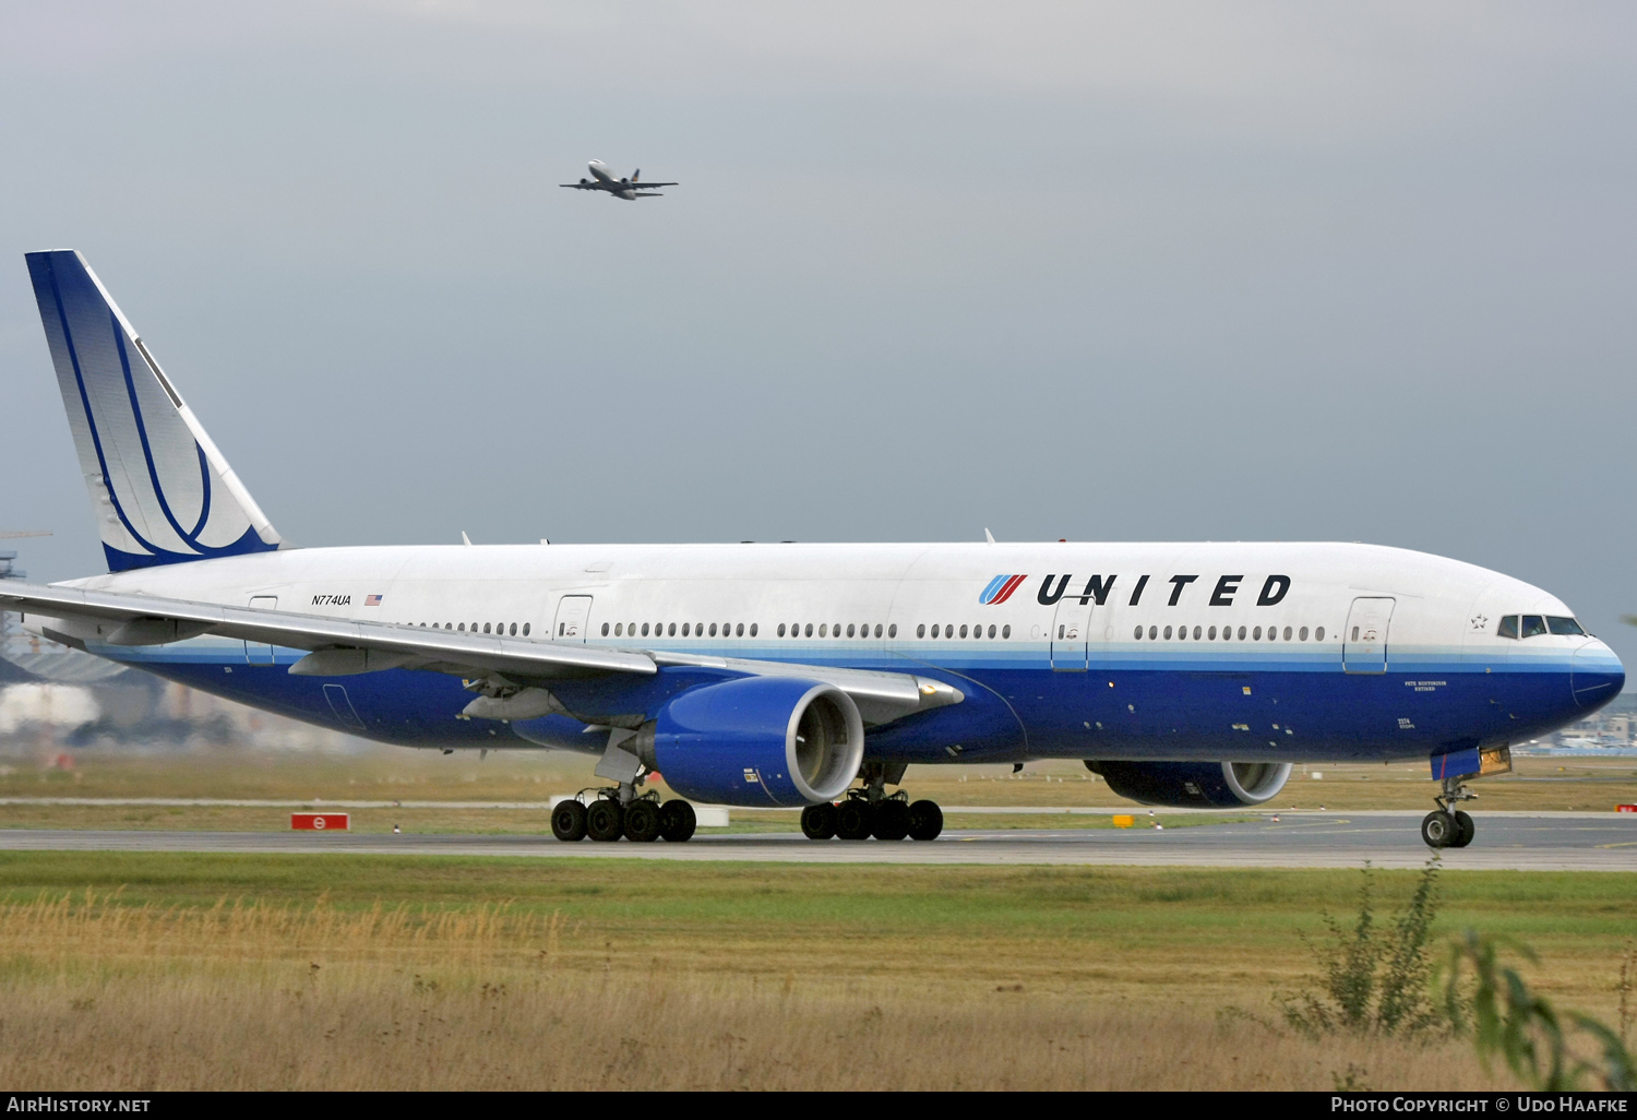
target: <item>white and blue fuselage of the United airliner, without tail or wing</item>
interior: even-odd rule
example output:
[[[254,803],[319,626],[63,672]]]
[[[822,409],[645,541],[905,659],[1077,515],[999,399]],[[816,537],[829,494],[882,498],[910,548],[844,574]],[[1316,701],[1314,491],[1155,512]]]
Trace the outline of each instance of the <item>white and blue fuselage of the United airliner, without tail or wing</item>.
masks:
[[[710,658],[915,673],[959,704],[869,729],[886,761],[1388,760],[1519,743],[1612,699],[1624,670],[1545,591],[1352,544],[498,545],[298,549],[75,586],[697,655],[640,683],[553,684],[576,711],[652,711]],[[404,747],[598,753],[552,714],[462,719],[462,681],[288,673],[306,650],[201,637],[115,657],[246,704]],[[619,689],[611,699],[599,696]]]

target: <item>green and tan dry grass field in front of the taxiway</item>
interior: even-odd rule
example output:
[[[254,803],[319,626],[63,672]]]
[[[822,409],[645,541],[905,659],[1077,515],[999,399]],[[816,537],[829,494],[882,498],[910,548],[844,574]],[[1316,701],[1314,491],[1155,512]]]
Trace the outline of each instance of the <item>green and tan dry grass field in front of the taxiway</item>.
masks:
[[[1380,873],[1390,907],[1409,873]],[[0,853],[0,1082],[1478,1087],[1272,1015],[1357,873]],[[1637,874],[1468,871],[1441,930],[1612,1017]]]

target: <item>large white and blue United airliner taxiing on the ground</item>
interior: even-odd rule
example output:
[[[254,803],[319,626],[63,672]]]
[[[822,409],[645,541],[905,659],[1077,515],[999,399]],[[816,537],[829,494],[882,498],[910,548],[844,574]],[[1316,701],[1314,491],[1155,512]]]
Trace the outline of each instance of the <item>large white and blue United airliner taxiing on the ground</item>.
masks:
[[[1421,758],[1432,847],[1621,662],[1540,588],[1360,544],[288,545],[106,290],[28,254],[108,573],[0,585],[36,634],[385,743],[599,756],[563,840],[686,840],[683,797],[931,840],[909,763],[1077,758],[1254,806],[1293,761]]]

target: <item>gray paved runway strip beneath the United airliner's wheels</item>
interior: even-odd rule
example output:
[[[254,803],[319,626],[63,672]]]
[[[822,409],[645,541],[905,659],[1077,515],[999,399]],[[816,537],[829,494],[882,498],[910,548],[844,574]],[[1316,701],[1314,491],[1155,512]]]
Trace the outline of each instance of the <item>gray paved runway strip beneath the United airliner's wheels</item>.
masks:
[[[0,829],[7,851],[241,851],[444,856],[589,856],[753,863],[1085,865],[1210,868],[1418,868],[1419,812],[1303,812],[1280,820],[1116,829],[949,829],[931,843],[812,842],[800,833],[697,833],[688,843],[560,843],[550,835],[380,835]],[[1146,822],[1146,817],[1141,819]],[[1486,812],[1450,869],[1637,871],[1637,814]]]

